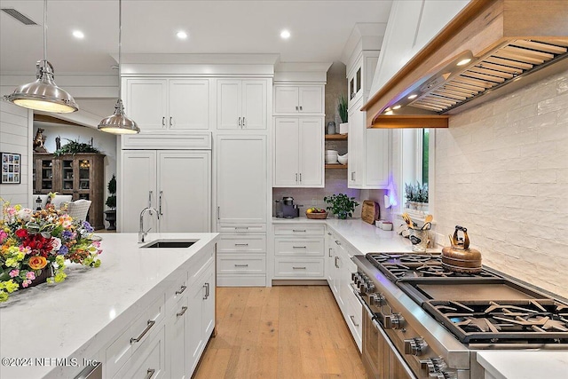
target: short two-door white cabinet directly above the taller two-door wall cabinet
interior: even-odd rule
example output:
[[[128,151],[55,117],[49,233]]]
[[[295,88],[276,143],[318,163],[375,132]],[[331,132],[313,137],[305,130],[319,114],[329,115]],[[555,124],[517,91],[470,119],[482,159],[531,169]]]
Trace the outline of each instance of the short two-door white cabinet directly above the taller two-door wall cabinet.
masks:
[[[274,86],[274,114],[324,114],[323,85]]]

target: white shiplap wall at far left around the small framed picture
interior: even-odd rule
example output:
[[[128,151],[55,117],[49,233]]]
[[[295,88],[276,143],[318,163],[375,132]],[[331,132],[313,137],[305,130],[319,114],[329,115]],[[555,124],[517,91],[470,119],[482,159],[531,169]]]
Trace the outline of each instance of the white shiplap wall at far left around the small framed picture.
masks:
[[[13,205],[29,206],[32,191],[33,161],[31,158],[32,112],[26,108],[0,101],[0,152],[21,154],[20,185],[0,184],[0,197]]]

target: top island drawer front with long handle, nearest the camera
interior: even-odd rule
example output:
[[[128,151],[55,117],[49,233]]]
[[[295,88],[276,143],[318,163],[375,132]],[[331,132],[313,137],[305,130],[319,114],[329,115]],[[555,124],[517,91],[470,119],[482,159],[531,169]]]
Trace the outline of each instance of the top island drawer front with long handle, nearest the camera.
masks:
[[[148,336],[153,336],[164,317],[164,295],[158,296],[153,304],[140,313],[121,336],[106,349],[106,376],[113,377],[132,354],[145,346]],[[138,339],[134,341],[134,339]]]

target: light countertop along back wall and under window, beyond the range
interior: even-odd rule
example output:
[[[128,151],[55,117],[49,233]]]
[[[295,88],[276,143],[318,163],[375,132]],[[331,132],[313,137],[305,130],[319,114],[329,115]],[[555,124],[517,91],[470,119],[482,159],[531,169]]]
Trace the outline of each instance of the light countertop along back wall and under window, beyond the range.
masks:
[[[307,217],[272,218],[273,225],[287,224],[319,224],[327,225],[351,244],[360,254],[369,252],[409,253],[412,252],[412,243],[407,238],[393,231],[383,231],[375,225],[367,224],[360,218],[326,218],[323,220]],[[395,227],[396,229],[396,227]],[[428,252],[440,252],[440,249],[428,249]]]

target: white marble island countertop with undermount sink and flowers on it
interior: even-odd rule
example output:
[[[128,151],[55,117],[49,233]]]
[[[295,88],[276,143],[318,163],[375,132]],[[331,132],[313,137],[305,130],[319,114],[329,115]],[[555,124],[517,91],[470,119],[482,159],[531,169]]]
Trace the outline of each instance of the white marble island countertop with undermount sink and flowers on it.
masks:
[[[187,249],[139,249],[137,233],[101,236],[99,268],[69,265],[67,280],[14,292],[0,305],[2,359],[92,357],[191,265],[197,252],[214,244],[218,233],[151,233],[146,237],[146,241],[197,240]],[[66,368],[57,365],[10,367],[4,363],[0,365],[2,379],[68,377]]]

